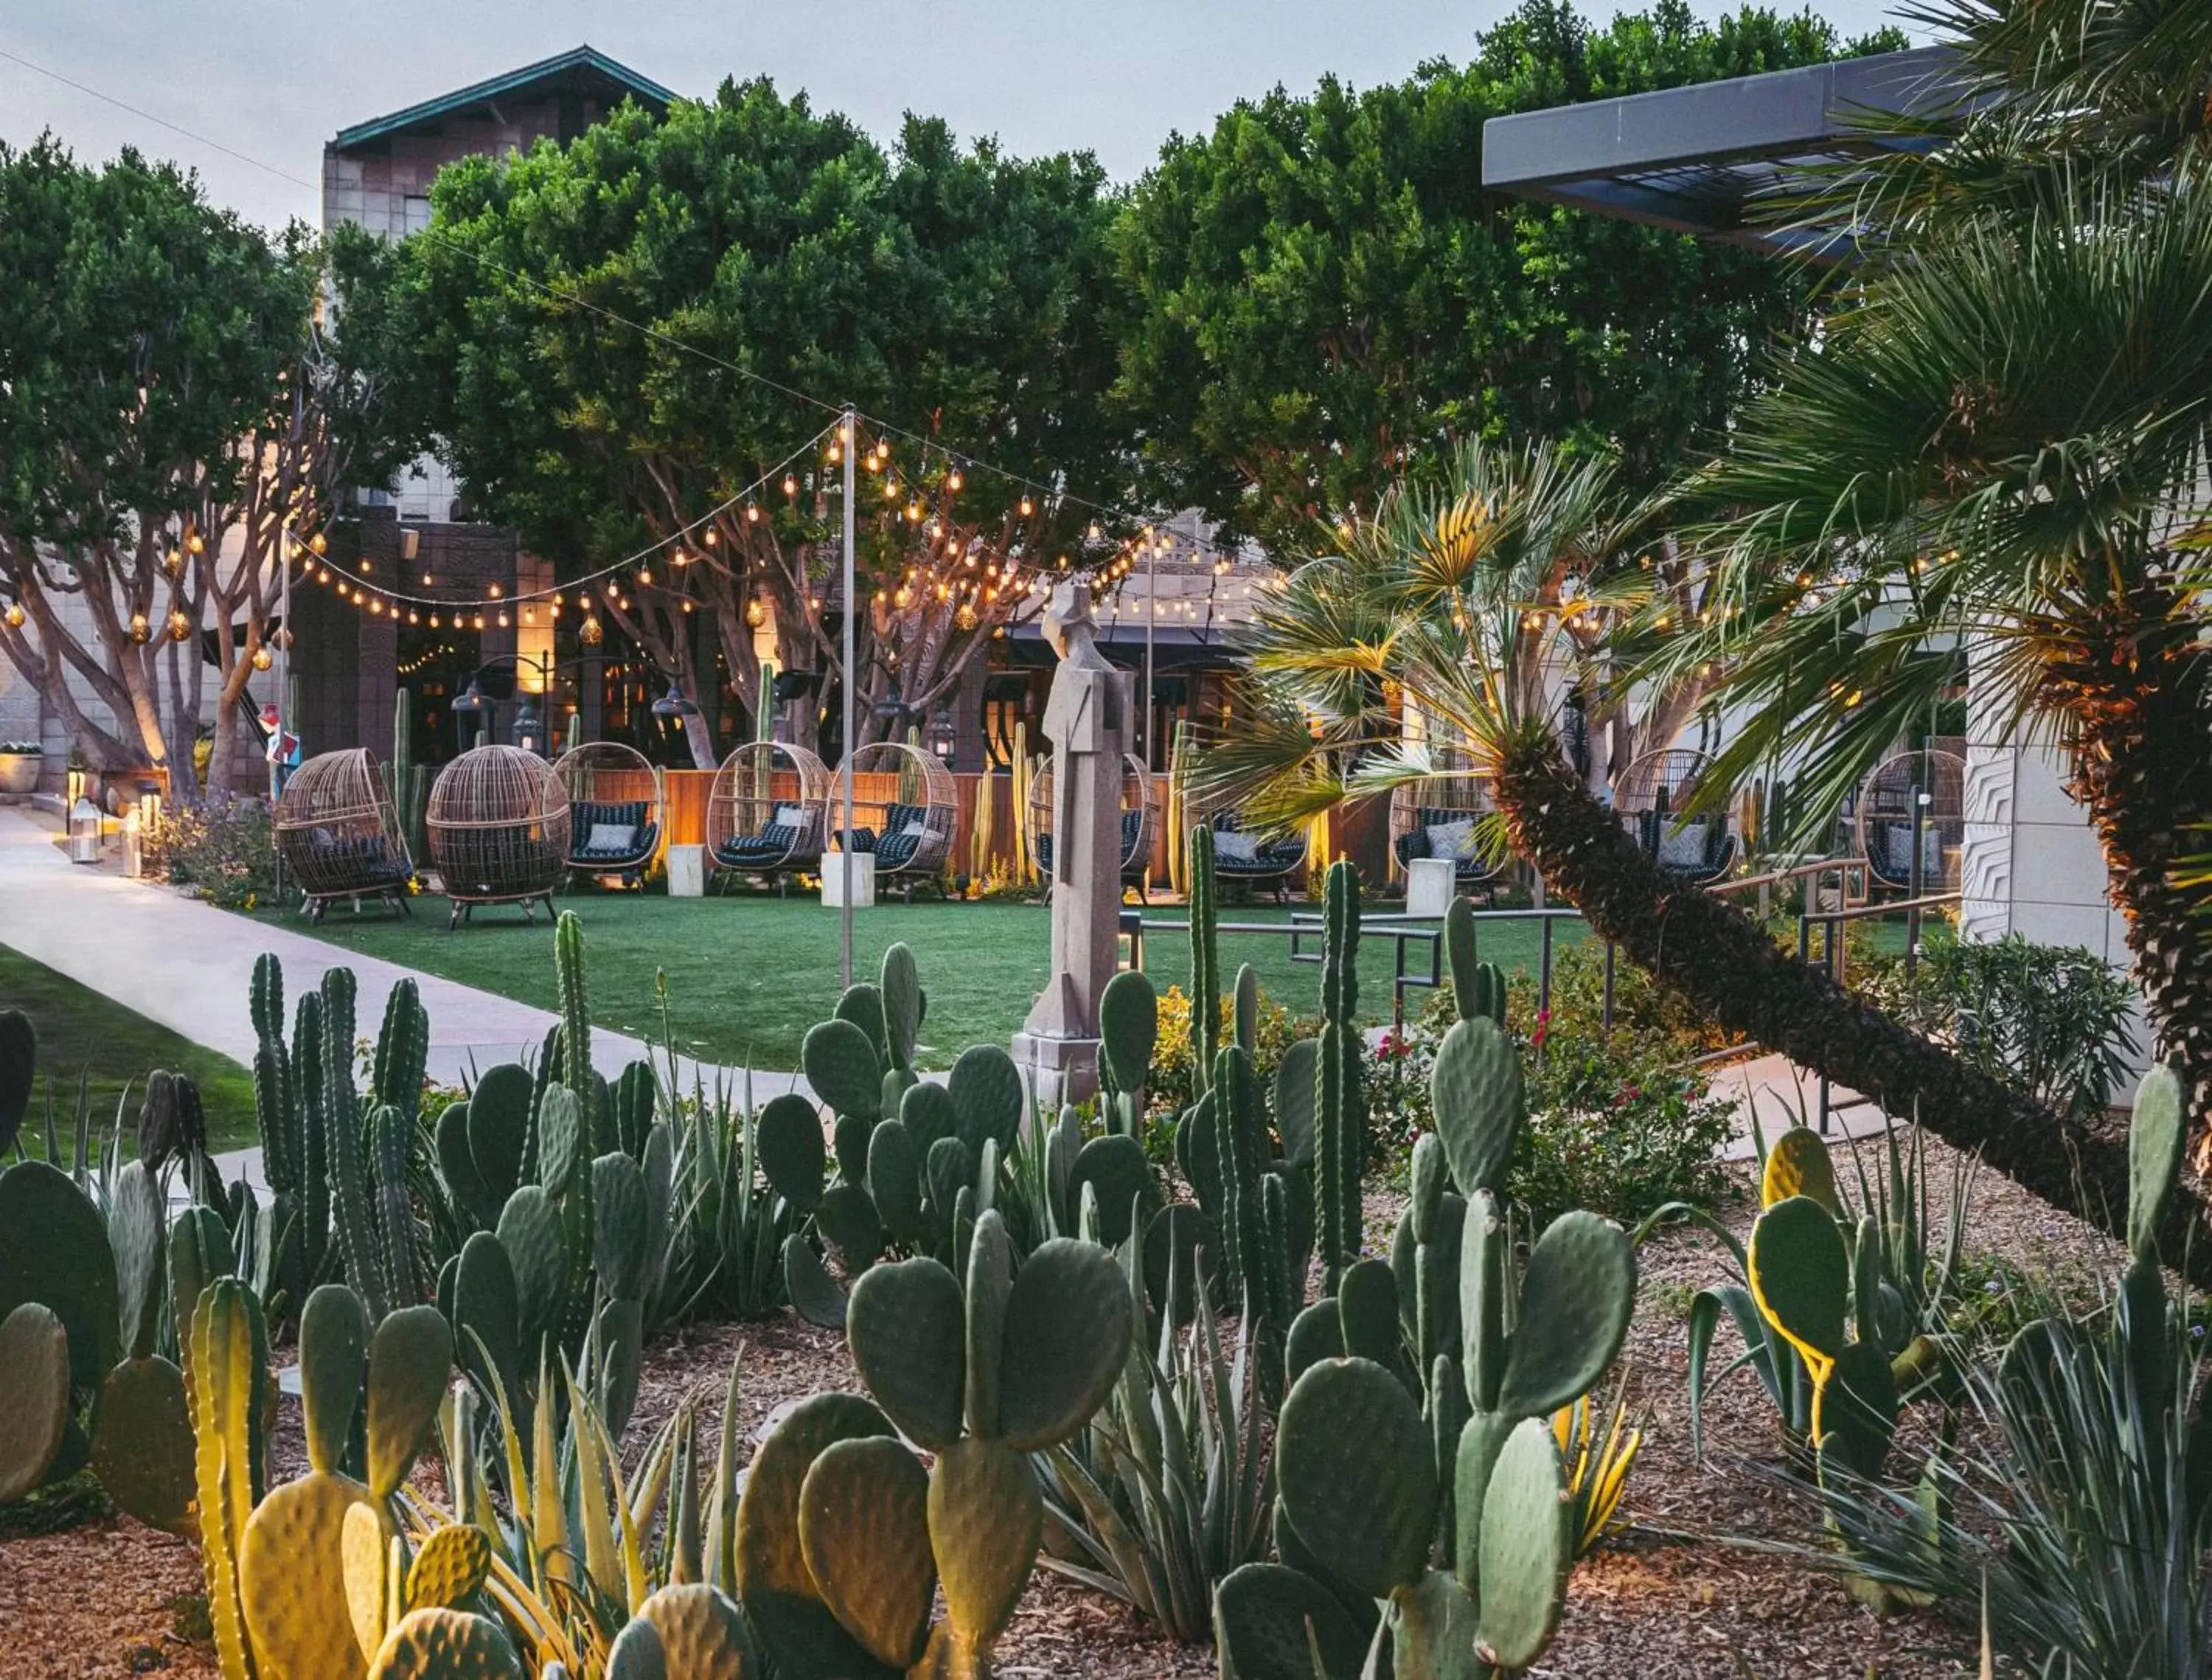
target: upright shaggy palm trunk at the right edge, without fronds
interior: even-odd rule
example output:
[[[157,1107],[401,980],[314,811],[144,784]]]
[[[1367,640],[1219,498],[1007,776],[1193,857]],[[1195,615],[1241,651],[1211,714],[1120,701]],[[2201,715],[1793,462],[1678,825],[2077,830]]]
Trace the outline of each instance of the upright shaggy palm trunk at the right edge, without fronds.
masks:
[[[2194,624],[2152,598],[2132,624],[2084,642],[2051,668],[2046,695],[2079,719],[2070,792],[2088,810],[2128,923],[2135,983],[2159,1058],[2188,1085],[2197,1171],[2212,1171],[2212,923],[2201,892],[2174,885],[2192,826],[2212,819],[2212,711]],[[2172,642],[2161,646],[2159,640]]]

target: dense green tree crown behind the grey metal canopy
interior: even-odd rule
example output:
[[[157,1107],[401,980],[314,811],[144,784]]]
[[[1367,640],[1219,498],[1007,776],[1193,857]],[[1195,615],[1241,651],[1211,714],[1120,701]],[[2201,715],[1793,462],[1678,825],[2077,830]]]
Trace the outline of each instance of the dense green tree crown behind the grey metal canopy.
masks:
[[[1809,288],[1747,250],[1484,193],[1482,124],[1836,51],[1812,13],[1705,27],[1661,0],[1590,29],[1528,0],[1467,66],[1276,89],[1170,139],[1115,228],[1115,394],[1150,496],[1294,553],[1464,438],[1551,436],[1657,483]]]

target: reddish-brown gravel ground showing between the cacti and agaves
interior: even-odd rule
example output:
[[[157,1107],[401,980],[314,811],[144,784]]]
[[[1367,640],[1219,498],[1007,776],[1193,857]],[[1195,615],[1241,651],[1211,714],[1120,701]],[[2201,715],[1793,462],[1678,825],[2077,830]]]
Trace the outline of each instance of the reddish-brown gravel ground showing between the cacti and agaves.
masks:
[[[1929,1147],[1938,1182],[1953,1155]],[[1743,1186],[1741,1173],[1736,1184]],[[1369,1193],[1369,1244],[1394,1209]],[[1725,1211],[1750,1226],[1750,1197]],[[1973,1204],[1973,1248],[1984,1268],[2084,1275],[2110,1264],[2112,1248],[2079,1222],[1984,1173]],[[1787,1558],[1730,1545],[1730,1536],[1805,1534],[1805,1510],[1745,1461],[1774,1463],[1772,1414],[1750,1375],[1732,1377],[1705,1408],[1708,1463],[1690,1456],[1683,1394],[1683,1308],[1712,1282],[1712,1244],[1694,1233],[1657,1235],[1644,1251],[1637,1319],[1621,1368],[1632,1403],[1648,1414],[1644,1452],[1628,1483],[1632,1525],[1584,1560],[1568,1594],[1566,1625],[1535,1669],[1542,1676],[1648,1676],[1692,1680],[1936,1680],[1975,1671],[1973,1642],[1933,1614],[1876,1618],[1829,1578]],[[1723,1332],[1725,1346],[1728,1332]],[[856,1388],[843,1341],[790,1315],[761,1324],[695,1326],[657,1341],[630,1425],[633,1452],[692,1390],[701,1392],[701,1441],[719,1432],[730,1359],[743,1348],[739,1406],[750,1432],[768,1412],[818,1388]],[[1599,1390],[1604,1397],[1610,1390]],[[274,1474],[299,1468],[299,1412],[285,1403]],[[128,1521],[7,1541],[0,1545],[0,1680],[38,1676],[208,1673],[215,1656],[195,1645],[199,1587],[190,1547]],[[1022,1614],[1000,1645],[1004,1680],[1135,1680],[1206,1676],[1212,1651],[1177,1647],[1124,1605],[1040,1569]]]

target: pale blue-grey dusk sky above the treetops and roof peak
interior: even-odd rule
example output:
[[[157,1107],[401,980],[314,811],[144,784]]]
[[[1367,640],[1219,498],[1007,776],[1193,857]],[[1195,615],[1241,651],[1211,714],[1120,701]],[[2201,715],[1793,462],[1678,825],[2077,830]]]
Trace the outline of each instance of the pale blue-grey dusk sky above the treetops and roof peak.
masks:
[[[995,133],[1015,153],[1088,148],[1115,179],[1139,175],[1172,131],[1201,131],[1239,97],[1356,86],[1427,58],[1464,60],[1509,0],[1022,0],[863,4],[836,13],[708,0],[0,0],[0,53],[217,139],[299,184],[0,58],[0,139],[53,128],[82,159],[137,146],[199,170],[217,204],[314,221],[323,142],[582,42],[686,95],[726,75],[770,75],[818,108],[891,137],[902,111]],[[1692,0],[1712,18],[1728,7]],[[1584,7],[1610,15],[1613,7]],[[1887,0],[1820,7],[1845,35]],[[849,18],[852,22],[845,22]]]

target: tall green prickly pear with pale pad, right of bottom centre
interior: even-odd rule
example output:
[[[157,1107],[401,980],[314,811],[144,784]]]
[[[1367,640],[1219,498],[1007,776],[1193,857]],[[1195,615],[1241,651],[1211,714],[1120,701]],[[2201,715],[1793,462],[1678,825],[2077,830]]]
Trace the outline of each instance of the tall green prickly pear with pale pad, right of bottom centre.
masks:
[[[1292,1326],[1283,1563],[1221,1583],[1223,1676],[1303,1680],[1318,1660],[1354,1680],[1387,1636],[1400,1676],[1475,1680],[1531,1667],[1557,1629],[1573,1525],[1551,1414],[1617,1359],[1635,1246],[1566,1213],[1515,1259],[1498,1184],[1520,1056],[1486,1012],[1447,1034],[1433,1098],[1391,1264],[1345,1266]]]

